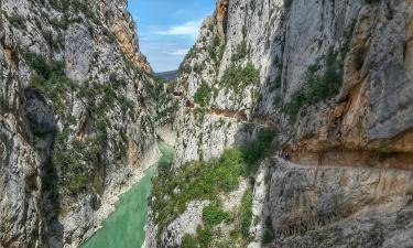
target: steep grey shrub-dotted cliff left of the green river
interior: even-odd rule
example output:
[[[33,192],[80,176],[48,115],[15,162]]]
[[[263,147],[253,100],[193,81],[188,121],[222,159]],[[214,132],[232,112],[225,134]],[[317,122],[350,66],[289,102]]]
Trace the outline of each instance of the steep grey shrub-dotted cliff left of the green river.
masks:
[[[77,247],[156,155],[151,67],[124,0],[0,9],[0,247]]]

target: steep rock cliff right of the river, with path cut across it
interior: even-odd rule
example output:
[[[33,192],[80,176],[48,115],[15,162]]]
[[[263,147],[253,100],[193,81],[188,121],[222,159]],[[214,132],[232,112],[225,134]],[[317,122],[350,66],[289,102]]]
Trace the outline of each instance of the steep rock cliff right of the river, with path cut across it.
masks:
[[[178,169],[171,173],[184,180],[159,176],[175,218],[162,217],[154,194],[146,245],[411,247],[412,7],[217,1],[161,107],[160,123],[177,137]],[[217,196],[187,192],[209,177],[204,182],[199,164],[186,162],[259,141],[265,128],[278,130],[265,147],[272,158],[252,174],[236,174],[250,179],[247,186],[240,180]],[[231,168],[227,157],[228,150],[204,171]]]

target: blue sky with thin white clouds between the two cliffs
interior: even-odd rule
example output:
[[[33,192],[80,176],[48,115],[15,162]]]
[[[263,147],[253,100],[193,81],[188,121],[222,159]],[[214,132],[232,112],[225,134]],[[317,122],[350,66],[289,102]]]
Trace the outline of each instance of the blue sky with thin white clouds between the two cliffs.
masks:
[[[216,0],[129,0],[139,44],[153,71],[176,69],[195,43],[202,21]]]

